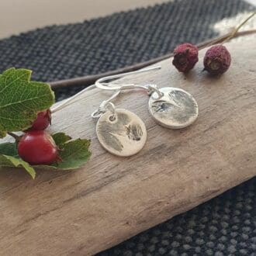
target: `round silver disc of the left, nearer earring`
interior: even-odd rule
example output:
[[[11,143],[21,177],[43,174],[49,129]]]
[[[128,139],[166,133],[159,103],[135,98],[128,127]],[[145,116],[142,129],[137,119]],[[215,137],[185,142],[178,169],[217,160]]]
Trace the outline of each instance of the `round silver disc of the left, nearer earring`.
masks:
[[[139,116],[126,109],[107,111],[98,120],[96,133],[100,144],[120,157],[137,154],[146,143],[147,130]]]

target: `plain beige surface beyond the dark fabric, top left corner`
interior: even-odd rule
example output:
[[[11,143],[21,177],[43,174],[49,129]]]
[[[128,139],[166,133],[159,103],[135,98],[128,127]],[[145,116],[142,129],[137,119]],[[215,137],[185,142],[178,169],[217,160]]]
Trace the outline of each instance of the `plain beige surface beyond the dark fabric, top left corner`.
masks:
[[[168,0],[0,0],[0,38],[161,2]]]

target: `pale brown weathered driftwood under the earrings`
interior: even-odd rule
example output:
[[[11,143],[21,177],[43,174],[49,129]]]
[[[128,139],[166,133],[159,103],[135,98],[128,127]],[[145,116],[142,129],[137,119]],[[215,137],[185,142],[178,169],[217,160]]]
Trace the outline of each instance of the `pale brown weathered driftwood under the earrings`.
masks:
[[[168,130],[148,114],[144,92],[123,94],[116,105],[147,126],[136,156],[114,157],[96,138],[90,114],[109,93],[95,89],[57,112],[51,130],[91,138],[92,160],[78,171],[38,171],[35,181],[1,170],[0,254],[95,254],[253,177],[255,42],[227,46],[232,66],[220,78],[202,73],[202,60],[187,77],[163,61],[161,71],[129,78],[184,88],[199,103],[196,123]]]

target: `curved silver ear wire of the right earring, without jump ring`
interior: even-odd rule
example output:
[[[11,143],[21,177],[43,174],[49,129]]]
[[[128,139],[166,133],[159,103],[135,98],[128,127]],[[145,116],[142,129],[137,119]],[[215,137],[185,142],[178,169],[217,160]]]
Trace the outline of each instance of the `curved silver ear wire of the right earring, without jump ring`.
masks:
[[[127,85],[116,85],[112,84],[111,82],[107,82],[112,79],[117,79],[117,78],[123,78],[126,75],[129,74],[141,74],[144,72],[150,72],[150,71],[157,71],[161,69],[161,66],[157,67],[147,67],[139,71],[132,71],[132,72],[127,72],[127,73],[122,73],[122,74],[113,74],[109,75],[108,77],[105,78],[99,78],[97,81],[95,81],[95,86],[99,89],[102,90],[109,90],[109,91],[116,91],[116,90],[127,90],[127,89],[133,89],[133,88],[146,88],[144,85],[135,85],[135,84],[127,84]]]

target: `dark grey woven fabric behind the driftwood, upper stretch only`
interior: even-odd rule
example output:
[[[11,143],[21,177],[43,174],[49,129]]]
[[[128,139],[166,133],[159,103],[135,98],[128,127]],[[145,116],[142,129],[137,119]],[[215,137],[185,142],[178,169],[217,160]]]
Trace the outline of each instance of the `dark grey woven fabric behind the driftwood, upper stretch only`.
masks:
[[[178,43],[217,36],[213,24],[247,12],[240,0],[178,0],[76,24],[48,26],[0,40],[0,72],[33,70],[33,79],[55,81],[98,74],[167,54]],[[82,87],[57,90],[67,98]]]

